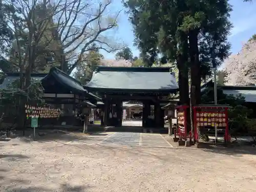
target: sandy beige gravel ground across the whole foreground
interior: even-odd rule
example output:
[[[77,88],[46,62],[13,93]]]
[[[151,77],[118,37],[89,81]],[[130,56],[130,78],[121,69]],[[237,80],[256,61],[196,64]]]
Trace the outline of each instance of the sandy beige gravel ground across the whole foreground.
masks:
[[[254,151],[0,142],[0,191],[256,191]]]

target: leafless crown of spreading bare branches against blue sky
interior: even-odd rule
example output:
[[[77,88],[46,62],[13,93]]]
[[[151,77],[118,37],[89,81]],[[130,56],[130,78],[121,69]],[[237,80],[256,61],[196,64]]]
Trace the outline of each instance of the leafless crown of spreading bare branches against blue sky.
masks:
[[[53,34],[60,47],[55,59],[62,71],[70,74],[82,62],[84,53],[94,49],[93,44],[109,53],[122,48],[107,35],[117,27],[119,12],[110,14],[111,1],[102,2],[67,0],[65,9],[55,16]]]

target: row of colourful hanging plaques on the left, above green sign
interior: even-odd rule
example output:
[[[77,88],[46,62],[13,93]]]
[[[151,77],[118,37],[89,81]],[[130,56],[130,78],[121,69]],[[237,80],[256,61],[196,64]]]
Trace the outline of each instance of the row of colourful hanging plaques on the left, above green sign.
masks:
[[[25,113],[27,119],[30,117],[37,118],[58,118],[60,115],[60,109],[53,109],[49,107],[31,106],[25,104]]]

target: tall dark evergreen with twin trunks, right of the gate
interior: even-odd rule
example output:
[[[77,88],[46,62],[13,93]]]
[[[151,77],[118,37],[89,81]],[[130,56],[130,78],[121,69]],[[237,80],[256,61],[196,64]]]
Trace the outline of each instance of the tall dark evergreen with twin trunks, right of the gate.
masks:
[[[231,9],[227,1],[127,0],[124,5],[130,10],[136,42],[144,50],[142,53],[156,56],[160,52],[177,64],[181,104],[189,104],[190,72],[191,105],[199,104],[201,77],[211,74],[210,70],[216,66],[216,62],[211,62],[213,59],[223,60],[228,55],[226,37]]]

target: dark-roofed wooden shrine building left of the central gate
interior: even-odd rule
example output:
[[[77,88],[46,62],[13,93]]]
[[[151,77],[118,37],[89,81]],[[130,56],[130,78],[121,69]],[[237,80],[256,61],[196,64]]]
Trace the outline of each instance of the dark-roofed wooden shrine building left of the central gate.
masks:
[[[6,73],[5,79],[0,84],[0,89],[8,90],[8,86],[18,79],[19,75],[19,73]],[[100,97],[84,89],[75,78],[55,67],[51,68],[48,74],[31,73],[31,79],[41,81],[42,87],[45,89],[43,96],[45,103],[52,105],[53,108],[61,109],[59,124],[79,125],[75,117],[79,105],[87,103],[93,108],[96,107],[97,101],[101,100]]]

